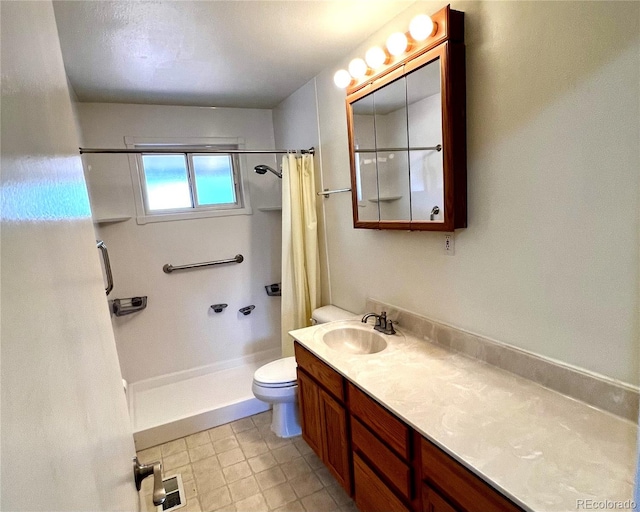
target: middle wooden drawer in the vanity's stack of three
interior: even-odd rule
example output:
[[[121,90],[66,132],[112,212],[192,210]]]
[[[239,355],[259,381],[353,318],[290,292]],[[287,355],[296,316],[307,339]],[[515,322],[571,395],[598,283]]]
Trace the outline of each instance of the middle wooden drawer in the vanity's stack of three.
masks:
[[[351,422],[351,441],[353,450],[368,459],[402,496],[413,498],[411,468],[355,418]]]

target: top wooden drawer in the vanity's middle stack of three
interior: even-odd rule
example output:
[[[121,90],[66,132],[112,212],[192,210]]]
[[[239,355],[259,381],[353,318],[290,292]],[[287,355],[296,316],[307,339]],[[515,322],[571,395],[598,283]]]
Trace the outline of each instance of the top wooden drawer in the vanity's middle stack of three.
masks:
[[[406,460],[411,460],[409,427],[351,383],[349,409],[396,453]]]

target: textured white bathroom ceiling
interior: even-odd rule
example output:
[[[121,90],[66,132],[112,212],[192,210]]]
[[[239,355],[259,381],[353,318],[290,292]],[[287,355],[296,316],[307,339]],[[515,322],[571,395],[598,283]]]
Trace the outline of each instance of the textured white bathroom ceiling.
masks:
[[[413,2],[54,1],[83,102],[273,108]]]

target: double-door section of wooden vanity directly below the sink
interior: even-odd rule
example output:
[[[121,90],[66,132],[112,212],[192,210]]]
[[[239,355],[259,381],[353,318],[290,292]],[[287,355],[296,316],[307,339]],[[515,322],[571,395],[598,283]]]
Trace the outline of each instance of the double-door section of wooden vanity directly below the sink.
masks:
[[[352,495],[344,378],[298,343],[295,355],[302,438]]]

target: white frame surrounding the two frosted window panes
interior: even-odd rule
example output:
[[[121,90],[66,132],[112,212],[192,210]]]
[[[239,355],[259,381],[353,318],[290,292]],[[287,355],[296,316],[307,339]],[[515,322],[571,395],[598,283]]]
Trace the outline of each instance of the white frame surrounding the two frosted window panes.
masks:
[[[211,155],[217,153],[203,153],[203,148],[219,149],[224,151],[242,149],[244,145],[242,139],[167,139],[167,138],[139,138],[125,137],[125,144],[132,149],[140,149],[141,153],[129,155],[129,165],[131,169],[131,179],[135,192],[136,222],[147,224],[150,222],[166,222],[176,220],[200,219],[207,217],[226,217],[232,215],[251,215],[252,209],[249,201],[248,179],[246,175],[246,161],[244,155],[238,153],[227,153],[231,157],[232,179],[235,203],[223,203],[215,205],[198,205],[198,191],[195,180],[195,168],[193,166],[193,156]],[[191,195],[192,207],[171,208],[165,210],[150,210],[147,196],[147,182],[144,173],[142,156],[145,149],[171,146],[184,148],[184,151],[176,151],[175,155],[183,155],[187,167],[187,180],[189,193]],[[152,154],[152,153],[147,153]],[[156,153],[157,154],[157,153]],[[220,153],[225,154],[225,153]]]

